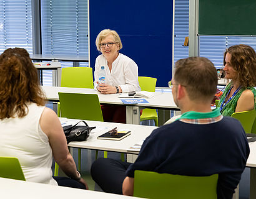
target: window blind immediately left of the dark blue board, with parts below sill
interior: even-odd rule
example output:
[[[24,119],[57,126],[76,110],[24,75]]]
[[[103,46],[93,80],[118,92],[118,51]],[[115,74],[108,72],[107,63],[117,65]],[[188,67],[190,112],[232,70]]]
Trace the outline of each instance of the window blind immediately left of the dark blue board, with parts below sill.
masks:
[[[88,55],[87,1],[41,0],[42,54]],[[61,62],[72,67],[72,62]],[[88,63],[82,63],[87,66]],[[51,85],[52,73],[43,72],[44,85]]]

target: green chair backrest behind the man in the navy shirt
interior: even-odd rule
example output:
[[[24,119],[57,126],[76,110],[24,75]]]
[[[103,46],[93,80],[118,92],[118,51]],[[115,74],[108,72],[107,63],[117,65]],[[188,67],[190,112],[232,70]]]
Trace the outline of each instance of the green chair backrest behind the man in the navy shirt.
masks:
[[[185,176],[135,170],[134,197],[142,198],[217,198],[218,174]]]

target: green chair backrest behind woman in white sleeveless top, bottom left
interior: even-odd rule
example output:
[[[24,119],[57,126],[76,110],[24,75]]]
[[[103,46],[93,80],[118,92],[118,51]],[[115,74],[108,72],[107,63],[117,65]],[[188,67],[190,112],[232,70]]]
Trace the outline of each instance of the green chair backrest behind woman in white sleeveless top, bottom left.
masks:
[[[16,157],[0,157],[0,177],[26,181]]]

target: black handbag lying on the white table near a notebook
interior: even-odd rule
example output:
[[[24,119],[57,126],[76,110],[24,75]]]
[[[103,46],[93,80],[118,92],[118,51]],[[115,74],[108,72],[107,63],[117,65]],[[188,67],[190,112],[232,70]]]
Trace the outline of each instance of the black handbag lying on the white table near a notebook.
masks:
[[[84,123],[86,126],[78,126],[79,123]],[[79,121],[74,126],[64,126],[63,131],[65,133],[67,144],[72,141],[86,141],[87,137],[89,137],[90,132],[92,129],[95,129],[94,127],[89,127],[88,124],[85,121]]]

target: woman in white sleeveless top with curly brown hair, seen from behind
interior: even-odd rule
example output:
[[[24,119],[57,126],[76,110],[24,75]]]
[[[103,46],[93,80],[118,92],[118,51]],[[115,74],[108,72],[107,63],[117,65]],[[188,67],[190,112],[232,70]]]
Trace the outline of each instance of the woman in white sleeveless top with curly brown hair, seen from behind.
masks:
[[[37,70],[25,49],[0,55],[0,156],[17,157],[27,181],[87,188],[59,118],[44,106]],[[67,177],[52,177],[52,156]]]

